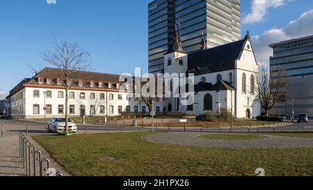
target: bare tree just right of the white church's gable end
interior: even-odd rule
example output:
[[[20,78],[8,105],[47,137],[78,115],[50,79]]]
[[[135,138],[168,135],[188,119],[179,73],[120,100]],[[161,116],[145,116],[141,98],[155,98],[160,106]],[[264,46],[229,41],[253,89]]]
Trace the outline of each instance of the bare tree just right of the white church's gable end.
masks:
[[[267,65],[261,65],[259,73],[255,74],[255,86],[257,100],[268,116],[268,111],[286,98],[289,80],[282,68],[269,69]]]

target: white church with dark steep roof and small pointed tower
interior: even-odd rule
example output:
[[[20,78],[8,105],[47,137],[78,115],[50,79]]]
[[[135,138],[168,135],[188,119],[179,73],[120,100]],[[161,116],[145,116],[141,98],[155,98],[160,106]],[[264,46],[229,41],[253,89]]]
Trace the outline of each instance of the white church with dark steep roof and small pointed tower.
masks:
[[[255,93],[259,65],[250,43],[249,33],[243,40],[186,54],[176,33],[173,45],[164,55],[164,72],[194,74],[193,104],[183,106],[179,98],[169,98],[168,108],[191,114],[232,111],[236,118],[256,118],[260,104]]]

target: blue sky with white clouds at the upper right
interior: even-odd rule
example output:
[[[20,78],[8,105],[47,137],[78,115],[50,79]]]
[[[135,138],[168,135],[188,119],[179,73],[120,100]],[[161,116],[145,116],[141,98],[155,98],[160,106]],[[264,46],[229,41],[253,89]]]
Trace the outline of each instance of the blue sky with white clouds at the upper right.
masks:
[[[41,53],[51,50],[55,40],[82,45],[92,54],[93,70],[97,72],[133,73],[135,67],[146,72],[149,2],[56,0],[56,4],[48,4],[46,0],[1,0],[0,98],[33,75],[26,64],[51,66],[42,61]],[[268,33],[274,37],[271,40],[278,40],[275,35],[284,35],[279,40],[298,37],[289,34],[290,22],[313,10],[312,0],[242,0],[241,4],[242,35],[248,29],[255,35],[252,39],[261,51],[259,57]],[[305,23],[313,20],[313,14],[307,15]],[[268,52],[265,54],[268,56]]]

